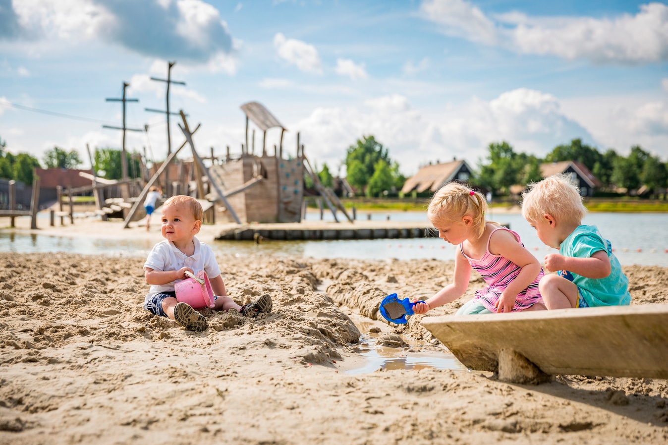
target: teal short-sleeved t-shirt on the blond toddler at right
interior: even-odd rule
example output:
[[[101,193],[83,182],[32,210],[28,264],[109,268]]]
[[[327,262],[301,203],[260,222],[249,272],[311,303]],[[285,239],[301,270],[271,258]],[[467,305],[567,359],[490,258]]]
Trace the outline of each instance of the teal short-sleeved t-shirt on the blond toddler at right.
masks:
[[[622,272],[610,241],[603,238],[596,226],[578,226],[559,247],[564,257],[589,258],[598,251],[604,251],[610,259],[611,271],[607,277],[587,278],[570,271],[559,275],[575,283],[591,307],[628,305],[631,303],[629,279]]]

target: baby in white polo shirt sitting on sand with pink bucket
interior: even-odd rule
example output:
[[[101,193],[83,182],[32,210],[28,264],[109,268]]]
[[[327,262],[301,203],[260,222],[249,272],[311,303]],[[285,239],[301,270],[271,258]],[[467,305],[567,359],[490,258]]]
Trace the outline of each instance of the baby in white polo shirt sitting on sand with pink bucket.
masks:
[[[190,305],[177,301],[174,292],[174,283],[186,279],[186,271],[196,275],[196,271],[203,270],[216,295],[216,311],[234,309],[247,317],[271,312],[271,297],[268,294],[243,306],[227,296],[213,251],[195,237],[202,227],[203,217],[202,206],[190,196],[172,196],[163,204],[161,231],[164,241],[153,247],[144,263],[146,283],[151,285],[144,299],[144,309],[169,317],[190,331],[204,331],[206,317]]]

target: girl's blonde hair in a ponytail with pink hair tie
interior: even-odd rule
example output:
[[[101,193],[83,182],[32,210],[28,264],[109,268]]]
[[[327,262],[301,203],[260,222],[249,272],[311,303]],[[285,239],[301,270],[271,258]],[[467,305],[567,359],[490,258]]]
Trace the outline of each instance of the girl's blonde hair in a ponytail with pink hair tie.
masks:
[[[462,218],[470,215],[474,229],[482,236],[485,231],[485,212],[487,201],[482,193],[471,190],[459,182],[449,182],[434,193],[429,202],[427,217],[435,223],[460,223]]]

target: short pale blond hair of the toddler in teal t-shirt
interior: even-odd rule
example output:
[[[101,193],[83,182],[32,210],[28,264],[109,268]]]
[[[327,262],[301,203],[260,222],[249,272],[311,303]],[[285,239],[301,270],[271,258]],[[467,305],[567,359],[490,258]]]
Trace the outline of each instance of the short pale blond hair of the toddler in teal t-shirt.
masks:
[[[540,182],[529,184],[522,193],[522,216],[528,221],[538,221],[544,214],[566,223],[580,223],[587,214],[582,204],[580,190],[568,174],[548,176]]]

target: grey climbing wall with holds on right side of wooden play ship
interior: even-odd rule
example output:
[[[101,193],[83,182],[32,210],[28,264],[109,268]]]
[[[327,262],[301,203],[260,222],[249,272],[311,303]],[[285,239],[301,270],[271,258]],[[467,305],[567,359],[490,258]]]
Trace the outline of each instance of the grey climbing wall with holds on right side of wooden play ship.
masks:
[[[304,196],[303,158],[279,159],[279,223],[299,223]]]

